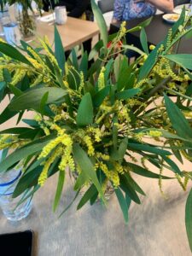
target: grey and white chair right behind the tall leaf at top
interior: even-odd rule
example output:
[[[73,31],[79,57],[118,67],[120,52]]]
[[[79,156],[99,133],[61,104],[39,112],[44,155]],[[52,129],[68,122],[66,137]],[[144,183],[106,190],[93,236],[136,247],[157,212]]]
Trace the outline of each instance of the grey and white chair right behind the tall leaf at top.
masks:
[[[113,4],[114,0],[99,0],[97,1],[99,8],[102,11],[103,17],[109,27],[113,18]]]

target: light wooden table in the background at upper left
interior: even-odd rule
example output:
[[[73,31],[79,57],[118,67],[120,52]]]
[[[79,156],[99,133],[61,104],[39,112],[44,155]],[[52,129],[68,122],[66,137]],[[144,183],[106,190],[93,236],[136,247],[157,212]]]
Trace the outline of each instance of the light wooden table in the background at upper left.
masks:
[[[96,22],[72,17],[67,17],[67,23],[57,26],[57,29],[60,32],[65,50],[73,49],[74,46],[82,44],[84,41],[99,34]],[[54,41],[54,26],[38,21],[37,35],[40,37],[46,35],[49,38],[49,42],[52,43]]]

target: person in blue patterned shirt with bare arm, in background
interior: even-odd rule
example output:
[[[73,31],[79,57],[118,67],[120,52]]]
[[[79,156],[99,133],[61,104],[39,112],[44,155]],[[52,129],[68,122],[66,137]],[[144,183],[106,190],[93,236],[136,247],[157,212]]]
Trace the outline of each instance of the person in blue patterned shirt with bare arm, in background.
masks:
[[[115,0],[112,23],[155,15],[156,9],[172,13],[173,0]]]

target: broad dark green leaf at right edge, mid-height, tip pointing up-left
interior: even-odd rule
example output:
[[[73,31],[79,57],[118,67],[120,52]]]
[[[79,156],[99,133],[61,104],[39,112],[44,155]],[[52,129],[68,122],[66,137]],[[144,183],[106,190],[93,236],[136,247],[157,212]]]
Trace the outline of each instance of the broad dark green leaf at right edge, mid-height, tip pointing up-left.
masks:
[[[192,129],[187,119],[176,104],[168,96],[164,96],[166,112],[172,123],[172,127],[177,131],[177,135],[184,138],[192,138]]]

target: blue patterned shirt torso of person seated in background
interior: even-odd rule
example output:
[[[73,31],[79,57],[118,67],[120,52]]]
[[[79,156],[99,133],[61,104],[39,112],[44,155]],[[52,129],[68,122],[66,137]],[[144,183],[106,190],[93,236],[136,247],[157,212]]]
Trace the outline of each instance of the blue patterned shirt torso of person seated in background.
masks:
[[[135,3],[134,0],[125,0],[123,20],[132,20],[154,15],[156,8],[150,3]]]

